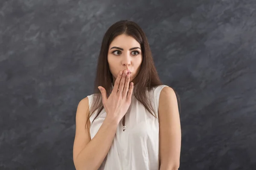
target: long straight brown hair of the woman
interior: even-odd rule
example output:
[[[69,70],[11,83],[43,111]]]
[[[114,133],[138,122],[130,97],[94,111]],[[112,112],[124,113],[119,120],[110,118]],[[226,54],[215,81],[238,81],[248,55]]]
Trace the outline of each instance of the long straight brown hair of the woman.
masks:
[[[146,94],[146,89],[148,89],[149,91],[158,85],[163,85],[163,83],[160,81],[160,78],[157,74],[157,70],[154,66],[154,61],[148,44],[147,37],[142,28],[140,28],[140,26],[138,26],[137,23],[128,20],[121,20],[114,23],[110,28],[108,28],[103,37],[98,59],[98,65],[96,68],[97,72],[94,82],[93,102],[91,102],[92,105],[90,107],[90,114],[88,114],[87,122],[89,121],[90,116],[98,108],[100,109],[98,113],[96,113],[96,117],[104,108],[102,104],[102,95],[98,89],[98,86],[100,85],[106,89],[107,97],[111,94],[111,83],[113,82],[113,77],[108,65],[108,48],[111,42],[114,40],[114,38],[119,36],[120,34],[126,34],[128,36],[131,36],[135,40],[137,40],[137,42],[140,43],[143,60],[140,66],[139,73],[132,80],[132,82],[134,82],[134,96],[144,105],[144,107],[153,116],[156,117],[157,113],[155,113],[151,101]]]

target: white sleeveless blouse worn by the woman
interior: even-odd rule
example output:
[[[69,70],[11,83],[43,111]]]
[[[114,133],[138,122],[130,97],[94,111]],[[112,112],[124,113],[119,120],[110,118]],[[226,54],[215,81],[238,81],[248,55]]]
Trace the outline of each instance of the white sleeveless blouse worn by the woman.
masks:
[[[152,88],[151,91],[147,91],[151,101],[153,101],[152,106],[157,117],[160,92],[165,86],[167,85],[159,85]],[[90,108],[93,94],[87,97]],[[103,108],[93,121],[96,112],[90,117],[91,139],[96,135],[106,117],[106,112]],[[99,170],[159,170],[158,119],[146,110],[135,98],[134,94],[132,95],[128,112],[125,114],[125,126],[123,127],[121,120],[111,148]],[[125,131],[123,131],[123,128]]]

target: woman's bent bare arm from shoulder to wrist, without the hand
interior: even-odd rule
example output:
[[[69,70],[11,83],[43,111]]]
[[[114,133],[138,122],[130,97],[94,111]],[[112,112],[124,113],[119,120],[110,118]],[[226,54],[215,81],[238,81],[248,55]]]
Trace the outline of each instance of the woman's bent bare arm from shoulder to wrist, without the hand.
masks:
[[[76,170],[97,170],[113,142],[118,121],[108,116],[105,118],[94,138],[90,139],[90,123],[87,120],[88,98],[79,102],[76,111],[76,135],[73,146],[73,161]]]

